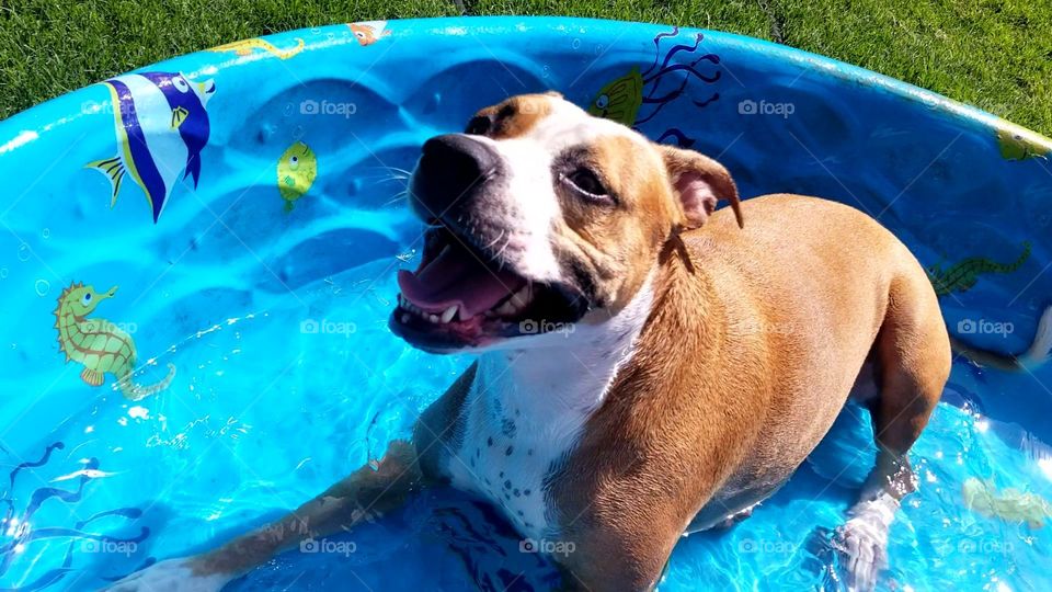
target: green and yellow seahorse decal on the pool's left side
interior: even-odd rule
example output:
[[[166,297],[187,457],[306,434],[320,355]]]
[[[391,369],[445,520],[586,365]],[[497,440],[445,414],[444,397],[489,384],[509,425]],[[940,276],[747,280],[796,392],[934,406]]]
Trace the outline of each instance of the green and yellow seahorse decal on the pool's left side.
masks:
[[[66,354],[66,362],[83,364],[80,377],[91,386],[102,386],[105,374],[117,379],[121,392],[133,401],[145,399],[168,388],[175,377],[175,366],[168,365],[168,376],[150,386],[136,384],[135,342],[126,331],[105,319],[89,319],[99,303],[112,298],[117,286],[106,292],[95,292],[92,286],[71,284],[58,297],[55,309],[55,328],[58,329],[58,346]]]

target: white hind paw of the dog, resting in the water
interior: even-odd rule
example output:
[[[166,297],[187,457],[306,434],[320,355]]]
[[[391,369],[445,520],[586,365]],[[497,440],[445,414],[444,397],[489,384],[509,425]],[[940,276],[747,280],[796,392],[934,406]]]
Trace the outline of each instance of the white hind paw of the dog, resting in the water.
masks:
[[[877,588],[877,576],[888,567],[888,532],[897,510],[899,501],[882,493],[851,508],[848,521],[836,530],[833,548],[848,590]]]

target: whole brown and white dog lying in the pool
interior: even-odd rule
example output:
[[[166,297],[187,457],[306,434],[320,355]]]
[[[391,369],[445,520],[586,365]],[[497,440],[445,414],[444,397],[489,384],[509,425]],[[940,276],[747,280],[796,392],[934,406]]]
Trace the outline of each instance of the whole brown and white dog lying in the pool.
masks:
[[[436,482],[490,500],[524,537],[572,542],[557,558],[570,588],[649,590],[684,532],[770,496],[849,397],[879,454],[834,544],[849,587],[872,588],[951,360],[931,285],[891,232],[813,197],[740,204],[716,161],[554,93],[430,139],[411,190],[430,228],[391,329],[478,361],[377,468],[116,590],[218,589]],[[1025,355],[971,353],[1037,364],[1045,317]]]

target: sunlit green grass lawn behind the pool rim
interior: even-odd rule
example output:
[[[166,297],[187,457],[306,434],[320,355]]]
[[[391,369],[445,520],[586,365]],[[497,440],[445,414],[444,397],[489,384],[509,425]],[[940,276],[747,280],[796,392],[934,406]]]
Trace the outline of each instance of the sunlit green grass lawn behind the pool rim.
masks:
[[[1048,0],[0,0],[0,118],[230,41],[461,10],[742,33],[857,64],[1052,134]]]

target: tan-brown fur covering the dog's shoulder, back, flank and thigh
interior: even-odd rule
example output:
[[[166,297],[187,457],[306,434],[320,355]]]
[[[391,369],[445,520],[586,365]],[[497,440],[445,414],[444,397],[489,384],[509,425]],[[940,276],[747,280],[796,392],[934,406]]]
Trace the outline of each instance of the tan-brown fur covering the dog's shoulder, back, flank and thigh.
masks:
[[[831,202],[777,195],[662,253],[652,315],[554,479],[568,568],[592,590],[655,582],[679,534],[775,490],[832,425],[878,334],[878,440],[904,454],[949,374],[924,271]],[[851,237],[845,241],[843,237]],[[902,377],[901,379],[894,377]],[[887,411],[885,411],[887,410]]]

